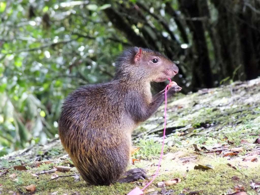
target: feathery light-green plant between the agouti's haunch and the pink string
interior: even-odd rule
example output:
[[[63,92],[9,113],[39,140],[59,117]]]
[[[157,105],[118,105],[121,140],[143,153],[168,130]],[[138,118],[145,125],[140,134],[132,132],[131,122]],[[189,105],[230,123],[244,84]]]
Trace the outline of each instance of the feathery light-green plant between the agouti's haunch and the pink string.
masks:
[[[158,142],[154,142],[151,140],[143,140],[140,139],[140,149],[137,151],[133,158],[141,158],[141,159],[152,159],[153,157],[159,157],[162,150],[162,144]],[[167,151],[167,146],[164,146],[164,153]]]

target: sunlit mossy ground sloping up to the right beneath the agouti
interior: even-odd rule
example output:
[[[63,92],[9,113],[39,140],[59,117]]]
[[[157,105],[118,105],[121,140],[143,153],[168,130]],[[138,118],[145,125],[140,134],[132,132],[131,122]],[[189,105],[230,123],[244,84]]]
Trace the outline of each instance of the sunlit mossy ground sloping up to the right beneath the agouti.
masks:
[[[161,130],[163,129],[163,111],[164,107],[160,107],[148,121],[143,123],[136,131],[134,139],[137,142],[140,137],[145,139],[153,138],[161,141]],[[153,133],[151,133],[153,132]],[[203,190],[202,194],[224,194],[227,190],[233,189],[236,185],[244,187],[247,194],[260,194],[257,190],[251,189],[251,182],[260,182],[260,161],[259,152],[258,160],[253,162],[243,161],[253,149],[259,149],[259,144],[249,146],[241,144],[244,139],[253,143],[260,132],[260,79],[249,81],[246,83],[233,83],[229,86],[210,89],[207,92],[198,92],[189,95],[179,95],[168,101],[167,105],[167,136],[166,143],[169,143],[166,154],[161,162],[159,176],[155,178],[153,183],[144,191],[154,189],[160,194],[162,188],[168,194],[180,194],[183,189],[189,191]],[[228,145],[233,142],[228,149],[234,147],[243,147],[244,151],[235,156],[223,157],[222,154],[198,154],[194,150],[192,144],[198,146],[210,147],[217,142]],[[59,155],[53,155],[53,148],[59,149]],[[149,147],[141,148],[149,150]],[[260,149],[259,149],[260,150]],[[10,171],[0,177],[0,192],[2,194],[12,194],[13,192],[20,194],[127,194],[136,186],[142,188],[146,181],[138,181],[129,184],[115,183],[111,186],[93,186],[88,185],[84,181],[74,183],[73,177],[62,177],[52,181],[50,174],[41,174],[37,179],[31,173],[40,170],[51,169],[53,164],[35,167],[36,154],[43,151],[43,160],[48,157],[54,162],[54,165],[68,166],[68,159],[60,160],[57,156],[63,155],[59,140],[51,142],[49,147],[38,146],[37,149],[30,151],[10,154],[0,162],[3,171],[5,168],[14,164],[22,164],[27,166],[28,171]],[[50,151],[48,153],[48,151]],[[145,154],[145,152],[143,152]],[[197,155],[193,160],[183,161],[180,158],[192,157]],[[141,157],[142,159],[145,159]],[[130,168],[142,167],[147,171],[148,176],[152,176],[158,168],[158,154],[154,154],[154,158],[149,160],[140,160]],[[31,161],[31,162],[30,162]],[[25,162],[25,164],[24,164]],[[227,164],[235,166],[237,170]],[[194,166],[212,165],[211,170],[194,170]],[[57,172],[59,176],[74,174],[75,168],[68,173]],[[15,173],[18,181],[9,176]],[[232,179],[237,176],[239,180]],[[180,178],[181,182],[172,186],[158,187],[158,182]],[[27,192],[24,186],[34,184],[36,190]],[[11,193],[10,193],[11,191]]]

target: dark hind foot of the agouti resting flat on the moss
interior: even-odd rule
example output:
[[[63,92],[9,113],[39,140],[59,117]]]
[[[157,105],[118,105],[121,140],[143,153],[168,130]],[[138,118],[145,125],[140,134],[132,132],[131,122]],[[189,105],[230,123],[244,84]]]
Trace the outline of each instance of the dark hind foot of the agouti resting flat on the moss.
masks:
[[[123,174],[127,176],[118,180],[119,183],[129,183],[132,181],[137,181],[139,179],[145,180],[147,178],[146,171],[142,168],[134,168]]]

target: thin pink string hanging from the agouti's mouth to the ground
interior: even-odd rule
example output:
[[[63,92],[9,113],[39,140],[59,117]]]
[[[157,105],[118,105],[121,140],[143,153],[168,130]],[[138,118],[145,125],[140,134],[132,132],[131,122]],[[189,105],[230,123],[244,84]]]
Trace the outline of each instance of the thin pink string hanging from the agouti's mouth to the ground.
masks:
[[[168,78],[169,79],[169,78]],[[171,79],[169,79],[170,80],[170,82],[172,82],[171,81]],[[143,188],[143,189],[139,189],[139,187],[136,187],[134,190],[132,190],[131,192],[129,192],[127,195],[141,195],[141,194],[143,194],[143,192],[142,191],[144,191],[144,189],[146,189],[152,182],[153,182],[153,180],[155,179],[155,177],[157,176],[157,174],[158,174],[158,172],[159,172],[159,169],[160,169],[160,164],[161,164],[161,159],[162,159],[162,153],[163,153],[163,148],[164,148],[164,139],[165,139],[165,129],[166,129],[166,106],[167,106],[167,95],[166,95],[166,93],[167,93],[167,89],[168,89],[168,86],[169,85],[167,85],[166,86],[166,88],[165,88],[165,110],[164,110],[164,112],[165,112],[165,116],[164,116],[164,132],[163,132],[163,141],[162,141],[162,151],[161,151],[161,157],[160,157],[160,160],[159,160],[159,164],[158,164],[158,169],[157,169],[157,172],[155,173],[155,175],[154,175],[154,177],[153,177],[153,179]]]

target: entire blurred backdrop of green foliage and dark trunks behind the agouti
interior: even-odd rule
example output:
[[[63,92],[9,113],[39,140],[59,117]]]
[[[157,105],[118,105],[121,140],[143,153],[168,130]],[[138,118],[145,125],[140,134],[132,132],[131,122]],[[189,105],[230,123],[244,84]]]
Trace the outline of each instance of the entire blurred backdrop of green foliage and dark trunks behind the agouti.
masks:
[[[64,97],[111,80],[129,46],[175,60],[184,93],[256,78],[259,8],[257,0],[1,1],[0,156],[57,137]]]

